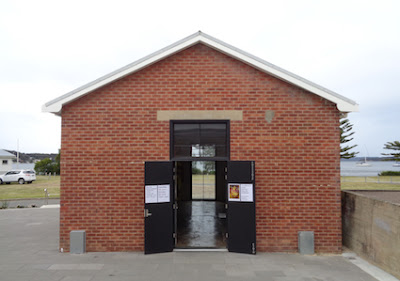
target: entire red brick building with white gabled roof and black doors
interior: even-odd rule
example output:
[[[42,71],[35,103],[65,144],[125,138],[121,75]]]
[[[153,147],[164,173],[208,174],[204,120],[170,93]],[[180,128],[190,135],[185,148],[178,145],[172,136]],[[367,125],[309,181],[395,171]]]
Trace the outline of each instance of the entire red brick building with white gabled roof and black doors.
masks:
[[[341,251],[339,118],[358,105],[198,32],[46,103],[60,249]]]

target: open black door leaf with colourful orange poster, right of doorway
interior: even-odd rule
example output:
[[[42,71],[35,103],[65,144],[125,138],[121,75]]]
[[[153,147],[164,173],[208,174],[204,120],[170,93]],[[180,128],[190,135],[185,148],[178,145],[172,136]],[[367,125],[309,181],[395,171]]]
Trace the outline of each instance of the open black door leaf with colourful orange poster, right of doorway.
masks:
[[[228,250],[256,253],[254,161],[228,161]]]

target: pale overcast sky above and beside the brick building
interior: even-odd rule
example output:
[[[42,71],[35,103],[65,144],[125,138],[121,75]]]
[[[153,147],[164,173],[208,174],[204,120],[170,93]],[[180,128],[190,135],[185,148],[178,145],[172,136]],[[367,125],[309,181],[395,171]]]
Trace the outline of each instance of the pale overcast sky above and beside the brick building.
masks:
[[[19,1],[0,8],[0,148],[56,153],[41,106],[198,30],[355,100],[359,156],[400,140],[400,1]]]

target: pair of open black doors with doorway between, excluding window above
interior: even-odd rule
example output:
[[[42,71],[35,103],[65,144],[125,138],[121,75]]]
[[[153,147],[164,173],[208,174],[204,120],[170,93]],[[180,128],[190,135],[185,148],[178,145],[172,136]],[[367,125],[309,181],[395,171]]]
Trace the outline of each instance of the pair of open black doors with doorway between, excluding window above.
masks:
[[[197,173],[199,179],[194,180],[192,161],[145,162],[146,254],[170,252],[176,247],[256,253],[255,162],[214,161],[214,180],[204,179],[204,183],[215,183],[214,192],[198,199],[193,199],[192,183],[203,182],[207,173]],[[207,194],[205,189],[201,193]],[[210,198],[213,194],[214,199]],[[196,207],[196,203],[203,206]],[[214,203],[214,207],[204,207],[206,203]]]

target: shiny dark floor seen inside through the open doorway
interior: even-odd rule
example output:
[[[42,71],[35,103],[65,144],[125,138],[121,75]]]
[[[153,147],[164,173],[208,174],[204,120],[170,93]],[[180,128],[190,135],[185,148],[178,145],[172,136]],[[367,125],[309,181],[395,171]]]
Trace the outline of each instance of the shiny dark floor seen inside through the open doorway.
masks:
[[[178,203],[177,248],[226,248],[226,213],[222,202]]]

